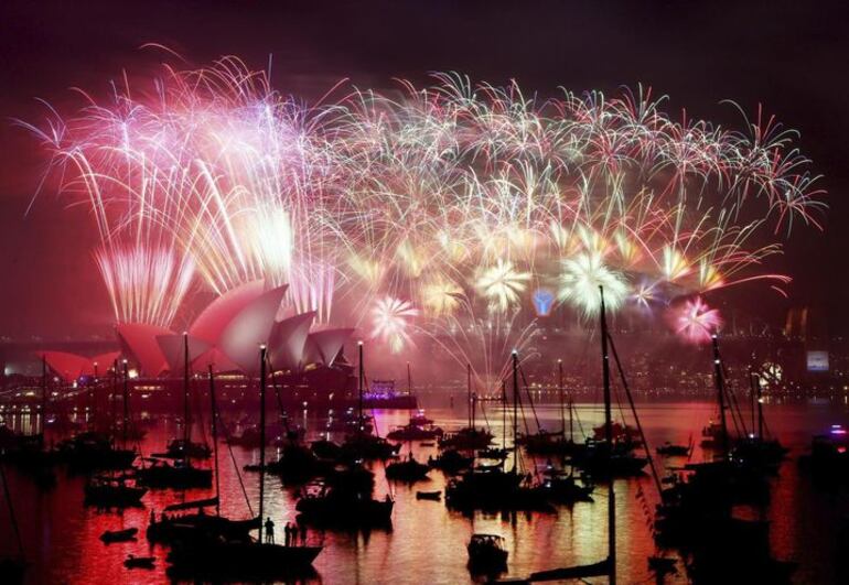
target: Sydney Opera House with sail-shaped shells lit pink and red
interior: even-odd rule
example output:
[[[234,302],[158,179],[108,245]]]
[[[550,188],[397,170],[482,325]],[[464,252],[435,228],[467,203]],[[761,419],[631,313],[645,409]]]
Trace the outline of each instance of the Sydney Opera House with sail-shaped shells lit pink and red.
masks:
[[[258,375],[259,347],[266,345],[272,379],[292,390],[290,398],[350,396],[355,380],[343,349],[354,329],[315,328],[314,312],[286,314],[286,285],[267,289],[264,281],[244,284],[213,301],[182,333],[144,323],[118,324],[117,351],[86,357],[42,348],[37,354],[68,384],[108,378],[109,369],[127,360],[135,387],[173,389],[182,380],[187,356],[190,372],[205,373],[212,367],[223,380],[240,380],[244,388]]]

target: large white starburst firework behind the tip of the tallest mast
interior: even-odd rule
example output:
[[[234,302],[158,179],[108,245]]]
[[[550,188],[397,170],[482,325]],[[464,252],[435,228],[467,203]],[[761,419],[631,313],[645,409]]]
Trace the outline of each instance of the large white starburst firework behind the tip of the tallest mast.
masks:
[[[584,315],[593,316],[601,307],[599,286],[604,288],[604,303],[610,311],[616,311],[627,296],[627,282],[604,264],[598,252],[581,253],[563,260],[558,296],[580,308]]]

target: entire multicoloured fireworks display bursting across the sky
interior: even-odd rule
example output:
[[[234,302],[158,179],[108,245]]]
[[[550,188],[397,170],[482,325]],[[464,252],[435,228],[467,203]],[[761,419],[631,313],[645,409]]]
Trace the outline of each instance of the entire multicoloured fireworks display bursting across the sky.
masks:
[[[592,317],[599,285],[612,312],[781,286],[786,277],[760,268],[781,252],[776,231],[818,225],[817,177],[774,124],[675,122],[642,91],[538,101],[444,74],[402,87],[309,107],[226,57],[166,68],[155,97],[116,89],[28,127],[63,193],[92,205],[122,322],[173,319],[195,267],[218,294],[287,283],[289,308],[324,325],[370,315],[398,351],[413,303],[417,333],[524,332],[531,313]],[[716,327],[712,310],[690,305],[675,331]]]

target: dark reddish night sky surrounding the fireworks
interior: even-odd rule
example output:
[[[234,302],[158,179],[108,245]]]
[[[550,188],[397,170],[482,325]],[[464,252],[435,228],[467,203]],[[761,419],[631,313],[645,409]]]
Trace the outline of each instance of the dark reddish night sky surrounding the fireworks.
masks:
[[[89,251],[85,208],[44,193],[29,215],[43,160],[9,120],[37,119],[36,97],[57,105],[68,88],[95,95],[127,69],[157,71],[157,42],[201,65],[235,54],[265,67],[278,89],[314,95],[341,78],[388,87],[459,71],[551,94],[636,84],[667,94],[723,126],[759,102],[802,131],[800,147],[825,175],[826,232],[797,229],[776,268],[794,277],[791,300],[766,286],[738,291],[741,310],[780,323],[791,305],[812,305],[832,334],[849,325],[843,228],[849,207],[849,8],[845,1],[31,1],[0,3],[0,336],[73,335],[105,326],[109,311]]]

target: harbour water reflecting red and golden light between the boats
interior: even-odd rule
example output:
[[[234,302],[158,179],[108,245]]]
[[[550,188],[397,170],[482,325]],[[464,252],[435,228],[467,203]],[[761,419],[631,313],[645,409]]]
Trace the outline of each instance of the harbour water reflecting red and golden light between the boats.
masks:
[[[422,405],[428,416],[443,429],[464,425],[466,414],[460,405],[450,408],[444,394],[424,396]],[[458,403],[463,402],[456,400]],[[646,437],[654,449],[665,441],[686,444],[692,436],[697,446],[692,461],[709,456],[699,446],[700,430],[714,414],[710,402],[642,403],[637,405]],[[813,486],[798,472],[796,459],[809,444],[810,436],[824,432],[832,423],[847,422],[843,402],[799,402],[770,404],[766,407],[771,432],[793,451],[773,480],[772,501],[765,511],[740,509],[741,516],[766,517],[771,521],[771,545],[774,556],[798,563],[794,576],[796,583],[834,583],[836,534],[840,522],[849,513],[846,495],[824,492]],[[601,423],[599,404],[580,404],[579,418],[584,431]],[[502,443],[501,408],[488,403],[484,414]],[[538,405],[540,424],[549,430],[560,426],[560,412],[556,405]],[[393,425],[402,424],[407,411],[375,411],[377,430],[385,434]],[[299,423],[312,434],[321,421],[310,413],[298,413]],[[482,415],[479,411],[479,422]],[[512,423],[507,423],[508,426]],[[536,423],[530,422],[531,431]],[[578,430],[578,427],[576,427]],[[144,453],[161,448],[169,437],[181,431],[173,420],[164,420],[153,426],[141,444]],[[309,437],[309,435],[308,435]],[[509,441],[507,442],[509,444]],[[417,458],[436,455],[436,447],[413,444]],[[407,447],[405,446],[405,452]],[[273,448],[268,449],[269,457]],[[234,518],[248,518],[249,510],[235,468],[256,463],[256,451],[233,448],[233,457],[223,446],[221,461],[222,511]],[[686,458],[657,459],[659,465],[676,466]],[[544,466],[525,456],[523,467],[533,473],[535,466]],[[600,561],[606,553],[606,490],[597,489],[594,502],[580,502],[573,507],[559,507],[556,513],[518,513],[503,517],[476,513],[472,518],[449,511],[443,502],[417,500],[416,490],[443,490],[445,478],[432,470],[430,480],[413,486],[389,484],[384,479],[383,465],[373,464],[376,475],[376,497],[390,494],[395,500],[390,531],[370,533],[310,531],[310,542],[321,542],[323,552],[314,563],[315,574],[303,583],[326,584],[378,584],[378,583],[469,583],[465,544],[474,532],[501,534],[509,552],[507,577],[527,576],[534,571]],[[247,499],[256,511],[257,476],[243,473]],[[25,477],[10,469],[10,484],[14,508],[21,524],[28,559],[31,561],[30,583],[50,584],[105,584],[105,583],[163,583],[166,551],[150,548],[143,537],[151,510],[158,512],[168,503],[207,497],[208,490],[151,490],[143,498],[143,508],[128,509],[122,513],[103,512],[83,506],[83,478],[60,474],[56,488],[40,491]],[[281,486],[276,477],[269,477],[266,487],[266,510],[277,526],[278,541],[287,521],[294,521],[294,495],[298,488]],[[651,533],[648,509],[657,502],[657,494],[649,476],[638,479],[617,480],[617,573],[621,583],[651,582],[647,557],[657,551]],[[8,529],[6,507],[2,507],[0,546],[13,549]],[[99,535],[105,530],[139,528],[136,542],[105,545]],[[127,554],[153,555],[153,571],[129,572],[122,566]],[[683,567],[681,567],[683,573]],[[603,583],[605,578],[591,579]],[[685,583],[683,576],[671,577],[668,583]]]

